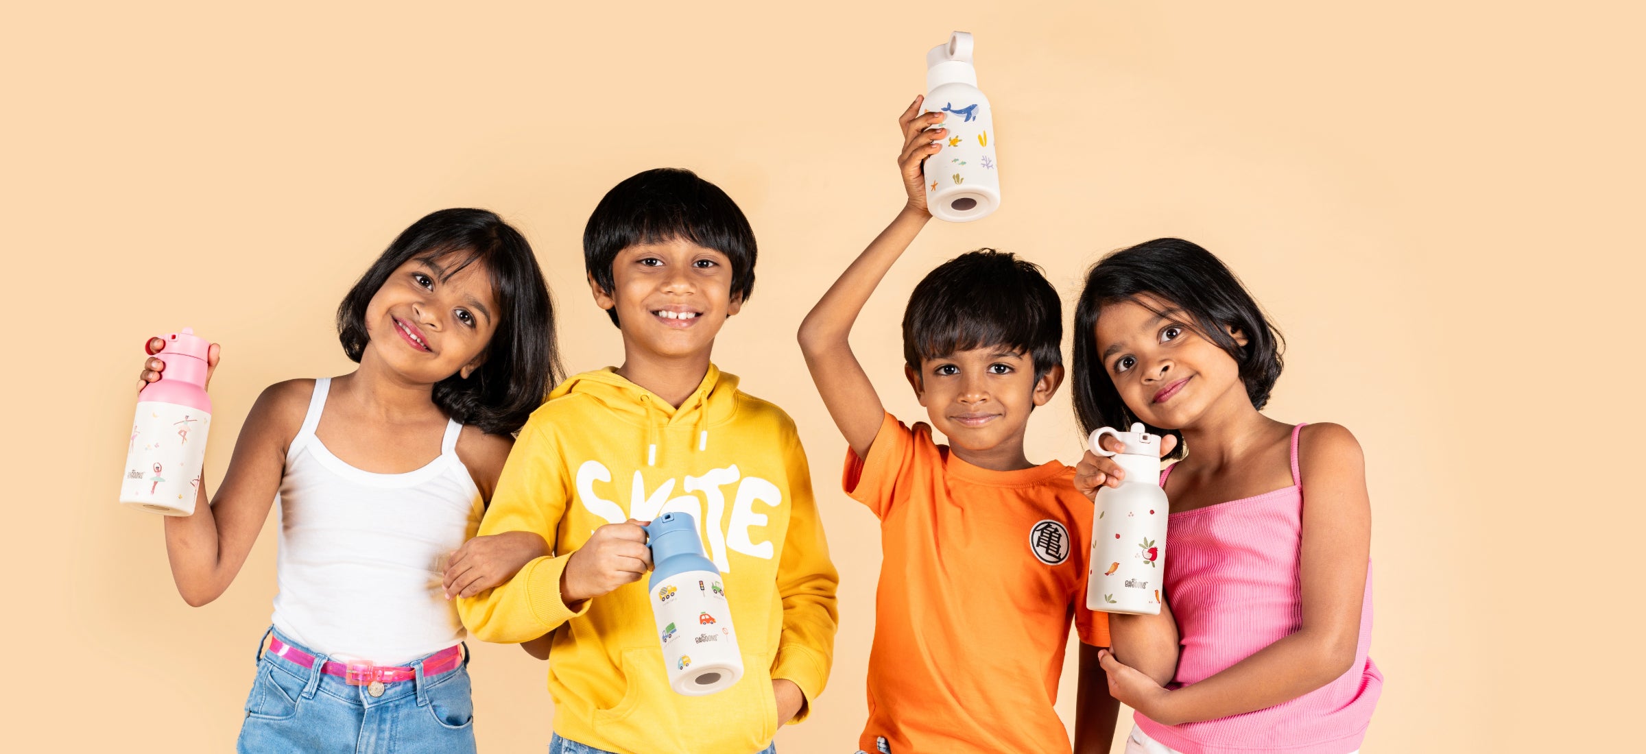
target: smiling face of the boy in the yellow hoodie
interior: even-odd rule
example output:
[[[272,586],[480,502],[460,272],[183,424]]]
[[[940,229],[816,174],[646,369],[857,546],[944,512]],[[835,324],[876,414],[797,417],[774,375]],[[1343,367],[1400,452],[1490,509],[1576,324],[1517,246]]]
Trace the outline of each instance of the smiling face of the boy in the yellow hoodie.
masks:
[[[617,313],[625,349],[665,359],[706,356],[726,318],[742,306],[731,295],[724,254],[673,239],[635,244],[612,258],[612,290],[589,277],[594,303]]]

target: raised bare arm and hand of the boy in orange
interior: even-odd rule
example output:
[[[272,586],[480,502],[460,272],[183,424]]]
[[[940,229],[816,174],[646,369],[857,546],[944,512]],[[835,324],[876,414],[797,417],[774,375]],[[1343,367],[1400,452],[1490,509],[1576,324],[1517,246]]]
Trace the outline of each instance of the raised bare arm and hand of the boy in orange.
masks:
[[[858,357],[851,352],[848,342],[851,326],[858,321],[863,305],[869,301],[869,295],[874,293],[874,286],[881,283],[897,257],[909,249],[909,244],[932,219],[925,206],[925,175],[920,171],[920,165],[938,151],[940,147],[933,138],[945,133],[943,128],[930,132],[925,128],[942,122],[945,115],[942,112],[920,115],[920,100],[922,97],[917,97],[897,119],[904,130],[904,151],[899,155],[897,165],[904,175],[904,191],[909,194],[909,202],[800,323],[800,351],[807,357],[807,369],[811,370],[811,382],[818,385],[818,393],[823,397],[830,417],[835,418],[835,426],[839,426],[858,458],[869,456],[869,446],[881,430],[886,408],[881,405],[881,397],[874,392],[869,375],[864,374]]]

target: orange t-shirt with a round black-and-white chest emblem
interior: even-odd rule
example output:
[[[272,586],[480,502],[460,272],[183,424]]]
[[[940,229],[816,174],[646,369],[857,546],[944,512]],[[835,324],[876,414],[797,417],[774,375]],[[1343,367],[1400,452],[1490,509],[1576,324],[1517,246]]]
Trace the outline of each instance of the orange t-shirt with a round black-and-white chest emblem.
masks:
[[[988,471],[886,415],[869,458],[846,451],[846,494],[881,519],[869,723],[894,752],[1067,754],[1052,705],[1068,622],[1109,645],[1086,609],[1091,500],[1049,461]]]

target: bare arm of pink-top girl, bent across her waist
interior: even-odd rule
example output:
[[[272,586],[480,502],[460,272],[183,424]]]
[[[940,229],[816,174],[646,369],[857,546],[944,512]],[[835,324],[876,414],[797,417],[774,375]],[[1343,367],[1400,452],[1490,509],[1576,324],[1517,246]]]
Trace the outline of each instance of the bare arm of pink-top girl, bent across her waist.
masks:
[[[1355,663],[1371,553],[1371,500],[1360,443],[1338,425],[1312,425],[1302,444],[1302,627],[1200,683],[1167,691],[1113,657],[1111,691],[1165,723],[1193,723],[1295,700]],[[1136,701],[1132,701],[1136,698]]]

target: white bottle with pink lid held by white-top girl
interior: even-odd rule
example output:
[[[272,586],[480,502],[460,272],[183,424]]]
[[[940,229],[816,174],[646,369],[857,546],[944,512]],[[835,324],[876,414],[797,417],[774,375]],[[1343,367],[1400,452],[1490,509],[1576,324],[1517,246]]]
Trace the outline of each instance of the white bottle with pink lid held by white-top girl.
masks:
[[[120,502],[163,515],[189,515],[206,463],[211,398],[206,395],[204,337],[194,328],[158,336],[160,380],[137,393],[137,418],[125,451]]]

